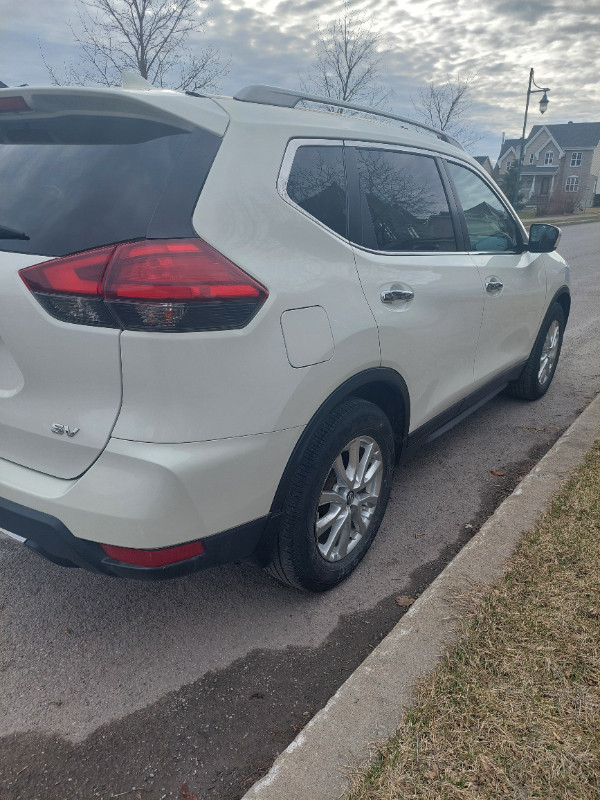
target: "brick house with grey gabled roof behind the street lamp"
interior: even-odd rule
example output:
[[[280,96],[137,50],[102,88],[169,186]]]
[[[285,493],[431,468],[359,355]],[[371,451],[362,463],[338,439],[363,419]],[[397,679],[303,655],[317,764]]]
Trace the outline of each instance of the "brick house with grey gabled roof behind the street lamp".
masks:
[[[517,169],[521,139],[505,139],[496,164],[499,177]],[[600,122],[534,125],[521,167],[525,205],[538,214],[570,213],[594,202],[600,175]]]

